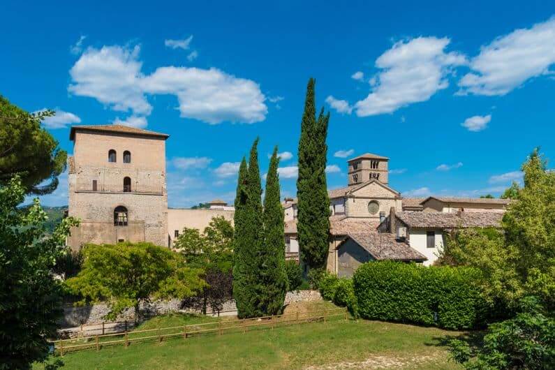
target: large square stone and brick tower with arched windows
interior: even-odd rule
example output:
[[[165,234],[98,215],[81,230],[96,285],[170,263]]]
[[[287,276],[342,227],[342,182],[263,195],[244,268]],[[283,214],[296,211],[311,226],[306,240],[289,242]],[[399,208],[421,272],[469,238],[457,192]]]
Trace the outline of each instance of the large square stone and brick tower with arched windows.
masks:
[[[81,220],[68,245],[151,242],[168,245],[165,140],[120,125],[73,126],[68,215]]]

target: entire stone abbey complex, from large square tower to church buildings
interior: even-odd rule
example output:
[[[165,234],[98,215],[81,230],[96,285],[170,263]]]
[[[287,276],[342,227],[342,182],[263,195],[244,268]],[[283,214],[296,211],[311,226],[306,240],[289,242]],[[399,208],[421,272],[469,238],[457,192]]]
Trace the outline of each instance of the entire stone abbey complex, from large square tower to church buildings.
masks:
[[[221,200],[209,209],[168,209],[168,138],[112,124],[71,128],[68,215],[81,220],[68,238],[72,249],[117,242],[171,247],[183,228],[203,230],[214,216],[232,221],[233,208]],[[379,259],[430,264],[446,229],[498,225],[508,205],[507,200],[403,198],[390,187],[388,164],[389,158],[375,154],[352,158],[347,186],[329,191],[330,271],[348,276],[358,264]],[[283,207],[286,256],[298,260],[296,200],[286,199]]]

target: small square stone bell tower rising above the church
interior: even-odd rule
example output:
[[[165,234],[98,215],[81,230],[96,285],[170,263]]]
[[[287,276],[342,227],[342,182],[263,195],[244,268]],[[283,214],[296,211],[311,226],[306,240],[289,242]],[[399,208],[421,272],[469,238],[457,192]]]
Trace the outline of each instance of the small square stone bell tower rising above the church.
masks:
[[[387,163],[389,161],[390,158],[370,153],[349,159],[347,161],[349,186],[363,184],[374,179],[387,185]]]

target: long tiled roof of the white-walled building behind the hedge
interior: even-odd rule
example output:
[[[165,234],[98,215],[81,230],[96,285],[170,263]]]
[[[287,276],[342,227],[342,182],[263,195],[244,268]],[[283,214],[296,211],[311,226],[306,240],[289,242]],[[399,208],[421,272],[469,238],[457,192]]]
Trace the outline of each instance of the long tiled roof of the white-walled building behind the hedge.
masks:
[[[501,212],[397,212],[397,219],[410,228],[487,228],[499,227],[503,213]],[[384,221],[385,222],[385,221]]]

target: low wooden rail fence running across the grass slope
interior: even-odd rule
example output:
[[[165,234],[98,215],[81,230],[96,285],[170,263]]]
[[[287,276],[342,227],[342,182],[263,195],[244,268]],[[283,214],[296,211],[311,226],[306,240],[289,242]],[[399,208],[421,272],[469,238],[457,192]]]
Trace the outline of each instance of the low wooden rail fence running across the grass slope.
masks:
[[[222,335],[228,332],[247,332],[250,328],[267,327],[274,329],[276,326],[293,325],[298,323],[309,323],[313,321],[324,321],[333,318],[347,319],[347,309],[325,309],[310,312],[287,313],[277,316],[263,316],[259,318],[246,318],[236,320],[215,321],[214,323],[202,323],[192,325],[182,325],[175,327],[159,327],[156,329],[124,331],[111,334],[99,334],[82,336],[74,339],[60,339],[51,341],[54,353],[64,355],[75,350],[96,349],[100,350],[104,346],[123,344],[128,347],[131,343],[158,340],[182,336],[187,339],[193,335],[217,333]]]

